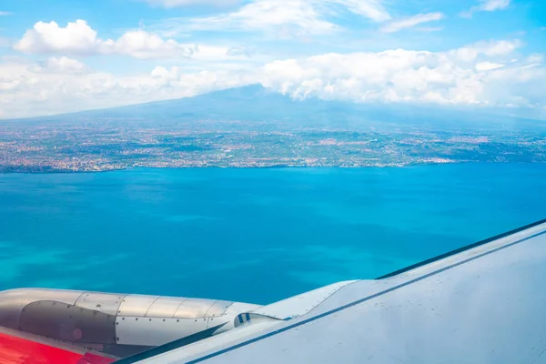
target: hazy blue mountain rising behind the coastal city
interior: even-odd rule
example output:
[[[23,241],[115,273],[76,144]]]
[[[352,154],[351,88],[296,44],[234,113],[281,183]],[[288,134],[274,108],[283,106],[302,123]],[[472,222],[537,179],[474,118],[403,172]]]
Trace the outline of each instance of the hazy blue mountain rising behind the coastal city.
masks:
[[[295,100],[261,85],[214,91],[203,95],[146,104],[81,111],[25,119],[28,122],[75,122],[121,119],[168,123],[198,120],[284,122],[292,126],[356,127],[389,124],[450,128],[519,129],[544,127],[541,121],[511,116],[512,110],[413,104],[356,104],[315,97]]]

